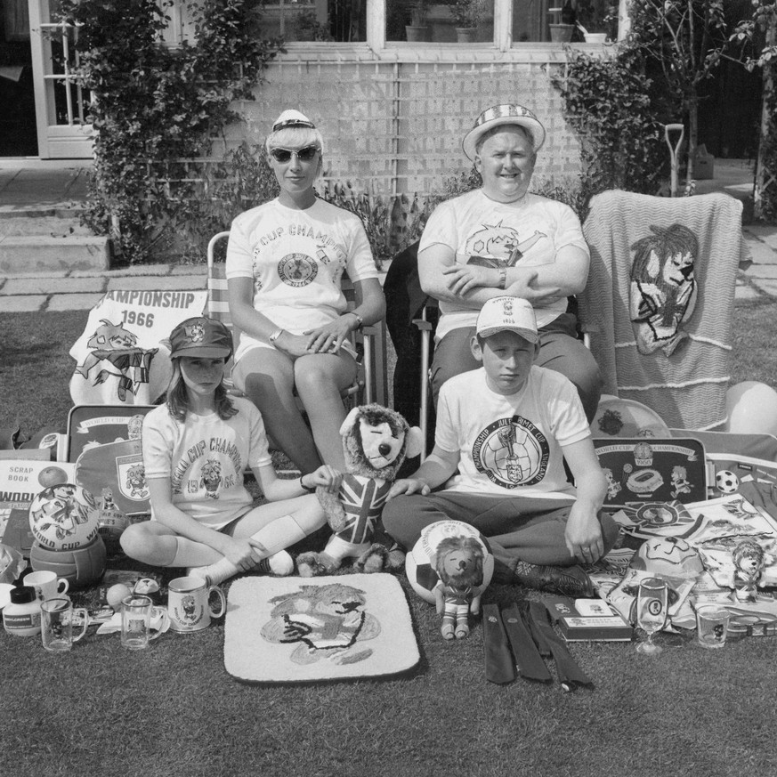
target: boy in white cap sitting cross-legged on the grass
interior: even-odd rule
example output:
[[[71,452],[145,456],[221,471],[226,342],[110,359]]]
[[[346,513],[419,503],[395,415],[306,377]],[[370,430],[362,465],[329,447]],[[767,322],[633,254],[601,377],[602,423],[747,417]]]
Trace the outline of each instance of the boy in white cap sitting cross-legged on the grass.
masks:
[[[594,595],[576,562],[606,554],[618,527],[602,511],[606,481],[578,393],[534,365],[537,324],[523,299],[485,303],[470,347],[482,368],[442,385],[432,454],[393,484],[384,528],[410,549],[430,523],[465,522],[489,539],[494,582]]]

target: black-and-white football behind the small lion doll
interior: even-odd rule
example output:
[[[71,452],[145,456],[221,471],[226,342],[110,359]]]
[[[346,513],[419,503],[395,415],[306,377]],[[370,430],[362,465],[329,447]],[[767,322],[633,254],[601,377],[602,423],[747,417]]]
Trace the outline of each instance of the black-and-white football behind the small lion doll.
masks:
[[[421,537],[405,559],[405,572],[410,585],[417,595],[430,604],[434,603],[434,587],[440,580],[433,566],[437,548],[443,540],[450,538],[473,538],[482,551],[482,581],[473,587],[473,596],[485,591],[494,574],[494,556],[488,540],[478,530],[460,521],[431,523],[421,531]]]

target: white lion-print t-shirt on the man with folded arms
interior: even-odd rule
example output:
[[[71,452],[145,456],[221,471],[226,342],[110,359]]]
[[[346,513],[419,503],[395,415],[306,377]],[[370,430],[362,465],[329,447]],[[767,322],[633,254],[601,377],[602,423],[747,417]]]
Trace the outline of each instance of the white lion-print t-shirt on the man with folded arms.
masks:
[[[579,218],[570,206],[537,194],[517,202],[497,202],[480,189],[434,209],[421,236],[419,255],[435,243],[449,247],[457,263],[473,263],[471,257],[476,256],[480,257],[477,263],[493,268],[552,264],[565,246],[579,247],[589,255]],[[545,327],[566,306],[561,299],[535,308],[537,326]],[[441,301],[435,337],[439,341],[452,329],[473,327],[477,316],[472,308]]]

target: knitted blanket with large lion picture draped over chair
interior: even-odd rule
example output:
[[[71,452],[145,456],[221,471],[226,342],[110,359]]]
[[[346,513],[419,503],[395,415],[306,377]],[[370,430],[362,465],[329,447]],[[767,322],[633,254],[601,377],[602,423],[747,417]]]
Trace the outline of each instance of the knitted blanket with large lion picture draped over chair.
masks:
[[[580,322],[603,392],[643,402],[669,426],[726,420],[741,202],[605,191],[583,230],[591,249]]]

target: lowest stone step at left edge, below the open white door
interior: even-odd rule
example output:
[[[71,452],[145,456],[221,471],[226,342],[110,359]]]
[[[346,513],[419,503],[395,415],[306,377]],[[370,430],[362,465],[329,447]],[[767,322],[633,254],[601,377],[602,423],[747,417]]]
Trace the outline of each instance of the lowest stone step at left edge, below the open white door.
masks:
[[[0,274],[103,271],[110,268],[110,240],[94,235],[0,237]]]

